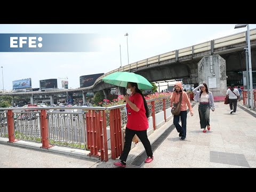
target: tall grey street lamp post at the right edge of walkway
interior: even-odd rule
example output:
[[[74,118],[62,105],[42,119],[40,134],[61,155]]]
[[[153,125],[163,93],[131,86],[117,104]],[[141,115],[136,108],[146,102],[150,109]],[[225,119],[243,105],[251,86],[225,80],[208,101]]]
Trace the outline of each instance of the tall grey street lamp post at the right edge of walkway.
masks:
[[[251,59],[251,40],[250,40],[249,24],[237,24],[235,26],[235,29],[243,28],[243,27],[246,27],[246,26],[247,26],[247,44],[248,44],[249,78],[250,78],[250,104],[251,104],[251,109],[253,109],[252,59]],[[247,89],[247,92],[248,91],[249,90]]]

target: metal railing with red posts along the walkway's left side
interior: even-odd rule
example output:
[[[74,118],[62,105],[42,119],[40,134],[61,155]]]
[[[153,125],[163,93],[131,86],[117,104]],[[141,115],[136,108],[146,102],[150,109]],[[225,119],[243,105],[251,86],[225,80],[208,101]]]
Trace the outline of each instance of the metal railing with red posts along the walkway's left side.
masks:
[[[156,130],[155,114],[169,108],[166,103],[170,96],[147,100],[153,129]],[[82,109],[81,112],[53,111],[52,109]],[[91,156],[99,156],[108,161],[107,126],[110,132],[111,152],[120,155],[122,148],[121,127],[127,121],[125,104],[113,107],[42,107],[0,108],[0,137],[8,137],[9,142],[28,140],[41,142],[42,148],[52,145],[90,150]],[[48,112],[46,111],[48,110]],[[35,111],[36,110],[36,111]],[[118,135],[118,136],[115,136]],[[118,141],[118,142],[117,142]],[[114,151],[117,152],[114,153]]]

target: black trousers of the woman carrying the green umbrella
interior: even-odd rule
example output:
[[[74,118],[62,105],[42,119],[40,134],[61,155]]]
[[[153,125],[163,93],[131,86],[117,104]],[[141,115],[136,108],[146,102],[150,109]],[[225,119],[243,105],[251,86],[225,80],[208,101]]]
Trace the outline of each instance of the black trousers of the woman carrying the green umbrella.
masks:
[[[148,140],[147,130],[135,131],[135,130],[131,130],[131,129],[126,127],[126,129],[125,129],[125,138],[124,138],[125,139],[124,149],[123,149],[123,153],[121,154],[121,156],[119,158],[124,162],[126,162],[127,156],[130,153],[131,145],[132,145],[132,138],[134,137],[135,134],[137,134],[138,138],[142,142],[142,144],[143,144],[143,146],[146,150],[147,156],[148,157],[153,156],[152,148],[151,148],[150,142]]]

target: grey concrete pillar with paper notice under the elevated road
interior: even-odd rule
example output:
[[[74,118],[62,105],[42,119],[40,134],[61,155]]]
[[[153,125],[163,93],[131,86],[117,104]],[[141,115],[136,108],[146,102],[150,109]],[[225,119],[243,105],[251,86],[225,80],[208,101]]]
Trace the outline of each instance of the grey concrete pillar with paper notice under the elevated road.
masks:
[[[198,62],[198,84],[206,83],[213,96],[226,96],[226,60],[220,55],[205,56]]]

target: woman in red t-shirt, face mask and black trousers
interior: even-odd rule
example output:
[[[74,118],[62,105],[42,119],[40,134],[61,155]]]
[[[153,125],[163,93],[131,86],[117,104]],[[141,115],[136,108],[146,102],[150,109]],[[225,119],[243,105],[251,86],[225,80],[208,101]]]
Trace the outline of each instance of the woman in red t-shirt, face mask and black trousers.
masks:
[[[114,163],[114,165],[119,167],[126,167],[126,159],[130,153],[132,138],[135,134],[137,134],[146,150],[148,157],[145,163],[150,163],[154,159],[147,135],[149,110],[146,99],[143,97],[141,90],[139,90],[137,83],[127,83],[126,92],[127,94],[124,96],[124,99],[127,109],[127,124],[125,129],[124,149],[119,161]]]

